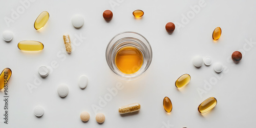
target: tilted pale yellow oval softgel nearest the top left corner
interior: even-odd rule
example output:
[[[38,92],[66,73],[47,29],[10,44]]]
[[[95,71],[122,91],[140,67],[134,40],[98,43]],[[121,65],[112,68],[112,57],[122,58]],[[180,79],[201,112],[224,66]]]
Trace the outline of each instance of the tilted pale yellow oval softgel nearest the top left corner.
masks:
[[[49,19],[49,13],[47,11],[41,12],[41,14],[39,14],[35,20],[34,28],[36,30],[41,29],[46,25],[46,23],[48,22],[48,19]]]

